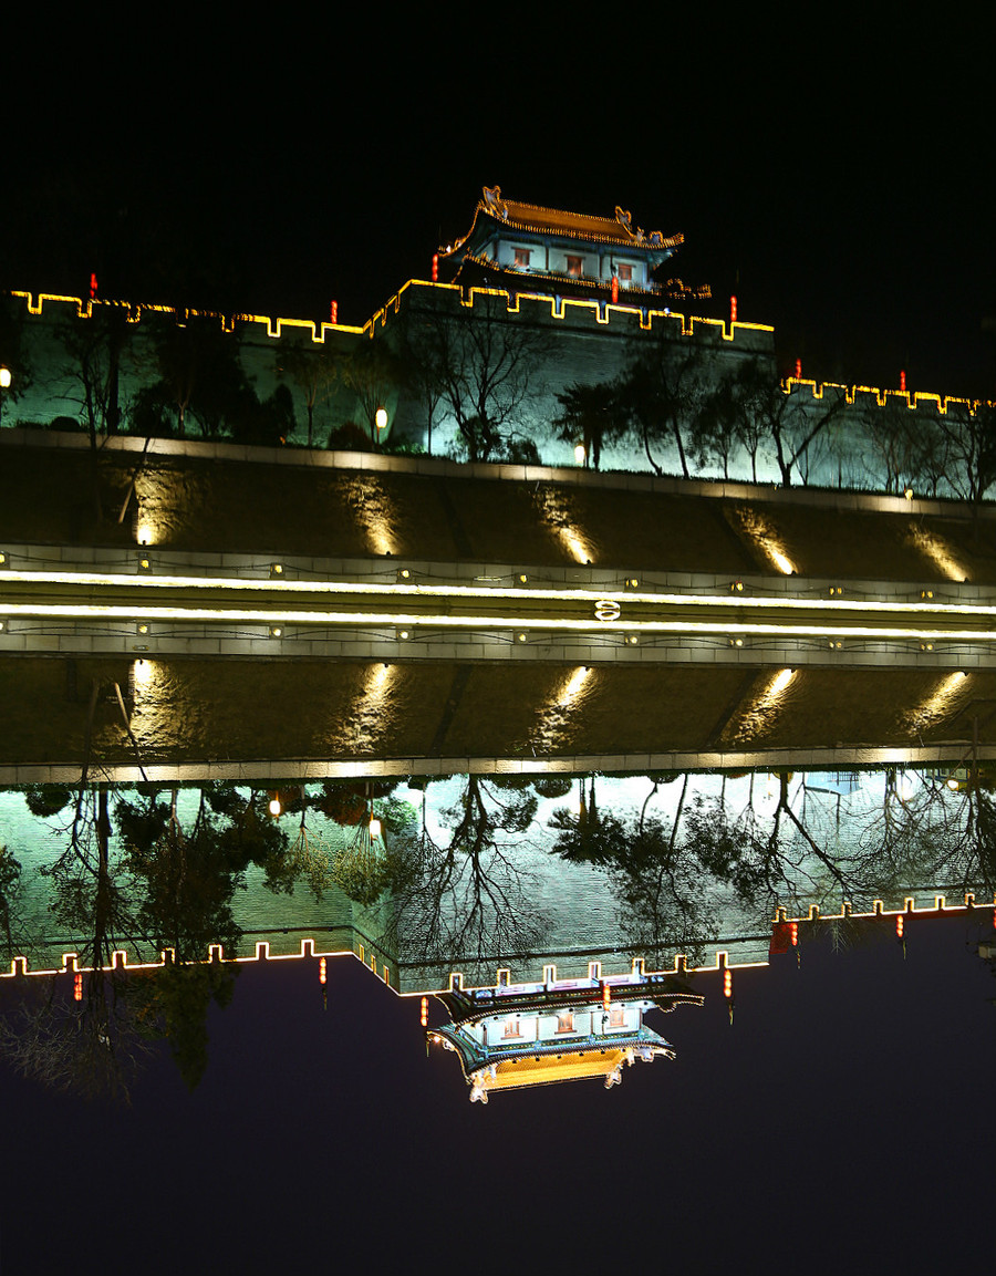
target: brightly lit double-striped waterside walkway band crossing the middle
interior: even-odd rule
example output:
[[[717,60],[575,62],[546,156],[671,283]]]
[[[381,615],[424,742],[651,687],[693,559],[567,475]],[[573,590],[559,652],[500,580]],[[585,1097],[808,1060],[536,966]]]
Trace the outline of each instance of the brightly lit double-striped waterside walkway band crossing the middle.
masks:
[[[589,569],[592,579],[575,583],[566,569],[531,578],[492,564],[469,575],[460,564],[385,570],[370,560],[328,564],[316,579],[295,560],[88,551],[89,561],[71,561],[69,553],[52,570],[34,567],[45,558],[37,547],[5,551],[4,652],[956,669],[996,657],[992,591],[954,582],[941,591],[699,574],[675,588],[653,573]]]

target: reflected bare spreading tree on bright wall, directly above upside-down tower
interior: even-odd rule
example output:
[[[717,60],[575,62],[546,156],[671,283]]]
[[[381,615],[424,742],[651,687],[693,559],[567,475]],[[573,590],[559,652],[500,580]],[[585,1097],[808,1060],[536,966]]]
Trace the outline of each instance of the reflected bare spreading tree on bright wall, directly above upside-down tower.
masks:
[[[406,958],[495,962],[534,946],[543,917],[529,896],[519,851],[536,815],[532,791],[502,790],[467,776],[441,813],[448,836],[421,828],[389,854],[394,926]]]

